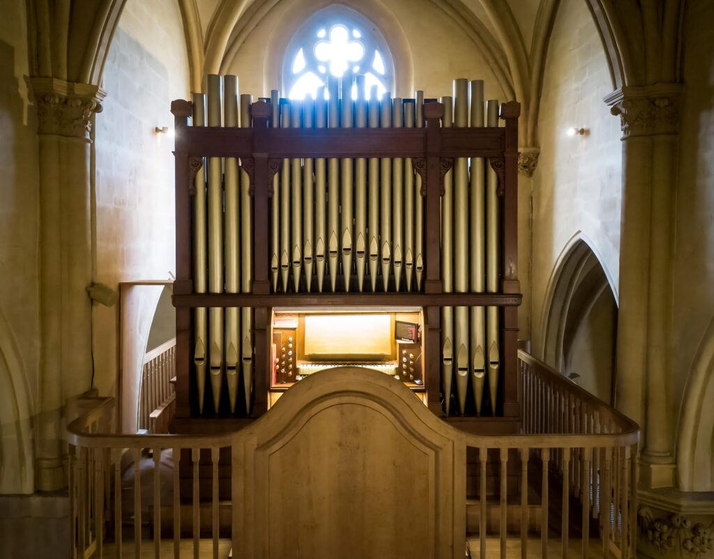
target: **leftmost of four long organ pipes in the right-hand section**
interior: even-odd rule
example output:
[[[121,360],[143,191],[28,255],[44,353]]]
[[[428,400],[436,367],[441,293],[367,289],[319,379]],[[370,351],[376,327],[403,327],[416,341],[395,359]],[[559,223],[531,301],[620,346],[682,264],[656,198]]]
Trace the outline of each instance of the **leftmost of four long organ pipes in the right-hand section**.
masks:
[[[453,126],[453,98],[441,98],[444,128]],[[453,171],[444,176],[444,195],[441,197],[441,274],[443,290],[453,292]],[[451,411],[451,385],[453,381],[453,307],[441,309],[441,378],[443,381],[444,411]]]

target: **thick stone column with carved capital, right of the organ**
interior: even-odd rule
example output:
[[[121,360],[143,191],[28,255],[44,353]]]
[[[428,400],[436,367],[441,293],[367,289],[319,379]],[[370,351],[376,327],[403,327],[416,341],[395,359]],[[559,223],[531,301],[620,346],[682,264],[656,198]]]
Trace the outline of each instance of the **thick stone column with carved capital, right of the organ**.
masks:
[[[672,256],[679,84],[625,87],[605,98],[623,131],[615,404],[644,433],[640,480],[674,483]]]

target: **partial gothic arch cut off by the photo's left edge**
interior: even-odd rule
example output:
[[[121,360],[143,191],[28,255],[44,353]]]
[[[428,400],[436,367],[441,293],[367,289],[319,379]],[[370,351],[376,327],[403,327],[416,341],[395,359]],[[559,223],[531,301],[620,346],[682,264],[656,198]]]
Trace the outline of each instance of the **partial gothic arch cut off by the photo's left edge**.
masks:
[[[34,493],[34,411],[24,364],[2,313],[0,387],[0,494]]]

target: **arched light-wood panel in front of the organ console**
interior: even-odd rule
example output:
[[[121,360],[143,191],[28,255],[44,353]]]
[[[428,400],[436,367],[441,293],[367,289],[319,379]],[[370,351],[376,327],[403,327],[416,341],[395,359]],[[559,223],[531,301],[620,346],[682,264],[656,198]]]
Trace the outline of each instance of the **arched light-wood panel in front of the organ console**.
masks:
[[[239,558],[463,558],[466,454],[403,383],[339,368],[291,388],[233,446]]]

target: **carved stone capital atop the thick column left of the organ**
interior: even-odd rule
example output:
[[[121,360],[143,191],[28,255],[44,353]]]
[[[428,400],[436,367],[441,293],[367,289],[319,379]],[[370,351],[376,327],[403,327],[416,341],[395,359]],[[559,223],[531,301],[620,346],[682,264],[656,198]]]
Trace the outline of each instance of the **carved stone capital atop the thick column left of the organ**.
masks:
[[[54,78],[32,78],[39,134],[89,139],[91,117],[106,94],[97,86]]]

